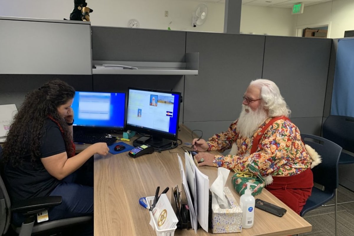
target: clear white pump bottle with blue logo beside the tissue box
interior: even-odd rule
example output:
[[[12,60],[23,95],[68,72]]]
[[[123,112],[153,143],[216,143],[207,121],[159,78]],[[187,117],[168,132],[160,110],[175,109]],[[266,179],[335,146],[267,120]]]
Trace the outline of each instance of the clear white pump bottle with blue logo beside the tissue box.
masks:
[[[255,218],[255,198],[252,196],[250,185],[256,184],[247,183],[247,189],[245,190],[245,193],[240,197],[240,208],[242,209],[241,225],[243,229],[251,228]]]

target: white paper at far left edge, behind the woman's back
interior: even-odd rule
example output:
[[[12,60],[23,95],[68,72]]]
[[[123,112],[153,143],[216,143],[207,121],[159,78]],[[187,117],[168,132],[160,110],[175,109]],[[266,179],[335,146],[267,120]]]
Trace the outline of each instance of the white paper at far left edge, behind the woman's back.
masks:
[[[0,142],[5,142],[13,117],[17,114],[15,104],[0,105]]]

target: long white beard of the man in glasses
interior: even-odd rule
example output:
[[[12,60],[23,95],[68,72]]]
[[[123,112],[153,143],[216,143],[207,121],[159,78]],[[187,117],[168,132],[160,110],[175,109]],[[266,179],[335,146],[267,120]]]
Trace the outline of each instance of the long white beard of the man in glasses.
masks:
[[[246,112],[246,109],[249,110],[248,113]],[[237,121],[236,131],[240,133],[241,137],[251,138],[267,118],[268,115],[263,107],[260,106],[256,111],[252,111],[249,106],[242,104],[242,110]]]

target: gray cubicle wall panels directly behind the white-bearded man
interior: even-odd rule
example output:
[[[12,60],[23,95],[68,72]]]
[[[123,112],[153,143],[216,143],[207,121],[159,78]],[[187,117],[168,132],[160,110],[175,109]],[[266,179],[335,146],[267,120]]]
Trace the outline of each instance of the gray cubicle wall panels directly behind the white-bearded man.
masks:
[[[187,33],[199,52],[199,75],[185,78],[184,123],[204,138],[225,130],[239,113],[249,82],[278,84],[304,133],[320,135],[331,39]]]

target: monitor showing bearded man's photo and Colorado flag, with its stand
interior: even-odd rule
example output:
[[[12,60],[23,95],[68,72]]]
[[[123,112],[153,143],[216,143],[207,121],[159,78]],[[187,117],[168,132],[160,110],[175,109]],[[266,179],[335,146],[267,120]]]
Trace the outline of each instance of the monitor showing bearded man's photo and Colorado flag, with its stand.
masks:
[[[180,104],[180,92],[129,88],[126,129],[150,135],[144,144],[167,147],[177,141]]]

